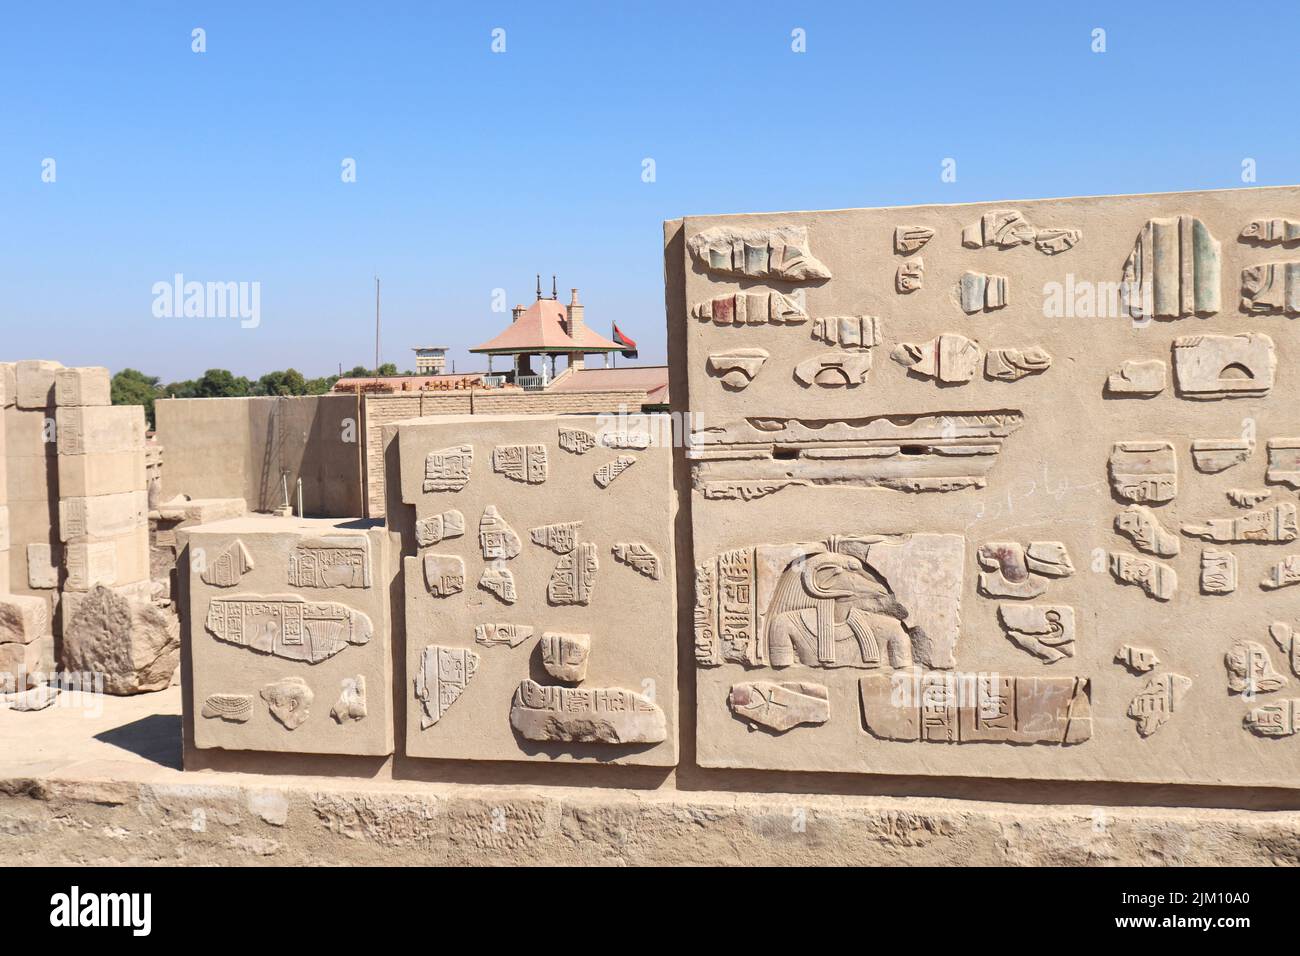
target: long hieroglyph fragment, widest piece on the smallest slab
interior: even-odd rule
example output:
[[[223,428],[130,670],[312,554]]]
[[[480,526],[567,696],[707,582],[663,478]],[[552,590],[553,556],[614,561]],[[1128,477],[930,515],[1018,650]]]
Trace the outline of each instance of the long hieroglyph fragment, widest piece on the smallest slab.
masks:
[[[373,633],[361,611],[298,594],[213,598],[204,627],[218,641],[307,663],[320,663],[350,644],[365,644]]]

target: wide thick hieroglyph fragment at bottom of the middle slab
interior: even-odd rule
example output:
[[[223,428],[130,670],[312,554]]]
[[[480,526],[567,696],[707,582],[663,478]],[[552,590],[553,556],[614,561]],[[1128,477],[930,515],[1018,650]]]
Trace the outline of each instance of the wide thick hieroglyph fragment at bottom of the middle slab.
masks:
[[[663,710],[619,687],[546,687],[524,680],[510,705],[510,724],[528,740],[655,744],[667,734]]]

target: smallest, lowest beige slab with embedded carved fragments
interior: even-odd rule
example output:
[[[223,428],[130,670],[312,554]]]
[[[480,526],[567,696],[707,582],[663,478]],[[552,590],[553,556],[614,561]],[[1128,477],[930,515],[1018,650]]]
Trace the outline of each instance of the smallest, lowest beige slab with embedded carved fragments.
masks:
[[[393,753],[387,531],[246,515],[178,536],[195,745]]]

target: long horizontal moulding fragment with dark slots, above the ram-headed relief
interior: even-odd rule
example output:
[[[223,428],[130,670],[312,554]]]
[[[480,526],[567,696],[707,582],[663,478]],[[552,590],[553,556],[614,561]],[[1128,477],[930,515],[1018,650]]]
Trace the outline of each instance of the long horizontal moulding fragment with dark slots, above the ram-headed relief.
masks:
[[[1014,411],[864,419],[748,418],[697,429],[686,458],[706,498],[759,498],[793,485],[904,492],[983,488]]]

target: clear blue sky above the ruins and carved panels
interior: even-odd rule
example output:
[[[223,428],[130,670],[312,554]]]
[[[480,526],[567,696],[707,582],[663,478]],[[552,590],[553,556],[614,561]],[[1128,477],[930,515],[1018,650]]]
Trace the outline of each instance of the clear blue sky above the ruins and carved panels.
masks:
[[[508,321],[493,290],[530,302],[536,272],[662,362],[660,222],[682,215],[1231,187],[1244,157],[1258,185],[1300,181],[1292,3],[0,17],[0,356],[164,380],[370,364],[374,273],[384,359],[403,368],[424,343],[478,367],[464,349]],[[261,325],[153,317],[153,284],[178,272],[260,282]]]

